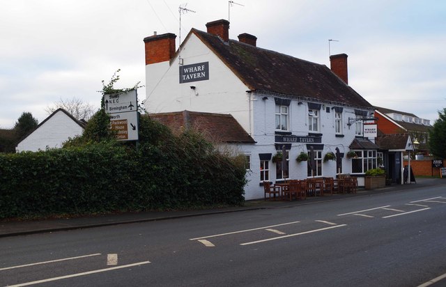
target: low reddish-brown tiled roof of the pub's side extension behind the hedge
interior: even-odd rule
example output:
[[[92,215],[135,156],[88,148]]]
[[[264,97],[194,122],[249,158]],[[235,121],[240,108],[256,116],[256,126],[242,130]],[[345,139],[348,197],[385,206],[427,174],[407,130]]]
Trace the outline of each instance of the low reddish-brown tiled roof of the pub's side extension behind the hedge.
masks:
[[[149,114],[160,123],[167,125],[173,132],[193,128],[210,141],[226,143],[255,143],[243,127],[230,114],[212,114],[197,111],[175,111],[170,113]]]

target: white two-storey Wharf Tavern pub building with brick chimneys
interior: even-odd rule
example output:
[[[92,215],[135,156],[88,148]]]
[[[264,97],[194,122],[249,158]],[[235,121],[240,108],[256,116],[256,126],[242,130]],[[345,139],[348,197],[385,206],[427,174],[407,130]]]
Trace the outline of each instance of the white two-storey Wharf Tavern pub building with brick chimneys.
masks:
[[[229,39],[229,22],[192,29],[176,50],[173,33],[144,39],[146,110],[178,129],[194,125],[246,155],[245,199],[263,198],[263,182],[357,176],[376,168],[377,146],[363,137],[374,107],[348,86],[347,55],[325,65],[256,47],[248,33]],[[274,160],[285,152],[286,163]],[[314,155],[314,169],[298,162]],[[354,151],[354,159],[346,157]],[[324,162],[327,153],[339,160]]]

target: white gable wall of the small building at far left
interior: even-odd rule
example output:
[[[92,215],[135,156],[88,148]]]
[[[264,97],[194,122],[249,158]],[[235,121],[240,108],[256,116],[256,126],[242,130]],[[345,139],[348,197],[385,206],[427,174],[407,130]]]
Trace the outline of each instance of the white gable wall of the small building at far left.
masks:
[[[37,130],[29,134],[17,145],[17,152],[30,150],[38,151],[48,148],[61,148],[62,143],[68,138],[82,134],[83,128],[67,116],[63,111],[58,111],[49,118]]]

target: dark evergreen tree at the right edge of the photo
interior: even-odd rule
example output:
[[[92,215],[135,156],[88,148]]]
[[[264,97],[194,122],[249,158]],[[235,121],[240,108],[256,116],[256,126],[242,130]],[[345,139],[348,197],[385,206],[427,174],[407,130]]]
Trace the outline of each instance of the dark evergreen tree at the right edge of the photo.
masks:
[[[429,130],[429,149],[434,156],[446,158],[446,108],[438,111],[438,120]]]

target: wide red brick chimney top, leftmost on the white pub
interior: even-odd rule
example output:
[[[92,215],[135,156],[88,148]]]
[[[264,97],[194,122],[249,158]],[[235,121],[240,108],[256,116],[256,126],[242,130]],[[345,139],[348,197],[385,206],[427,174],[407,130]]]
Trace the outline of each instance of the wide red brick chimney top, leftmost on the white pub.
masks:
[[[173,33],[153,35],[144,38],[146,47],[146,65],[169,61],[175,55],[175,38]]]

